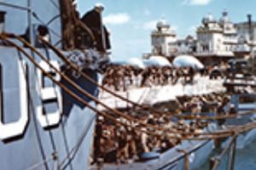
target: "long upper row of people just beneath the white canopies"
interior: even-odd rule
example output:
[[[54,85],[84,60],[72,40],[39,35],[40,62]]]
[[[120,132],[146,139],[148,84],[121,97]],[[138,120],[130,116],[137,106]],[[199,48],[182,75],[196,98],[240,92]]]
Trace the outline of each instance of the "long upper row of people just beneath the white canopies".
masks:
[[[239,73],[239,72],[238,72]],[[136,65],[108,65],[102,75],[102,85],[115,91],[126,91],[127,88],[143,88],[152,86],[164,86],[167,84],[183,85],[195,82],[195,75],[209,77],[209,79],[231,78],[234,81],[237,71],[232,71],[230,65],[221,63],[220,65],[207,65],[201,70],[192,67],[175,68],[172,66],[151,65],[140,68]],[[243,75],[245,80],[247,74]]]

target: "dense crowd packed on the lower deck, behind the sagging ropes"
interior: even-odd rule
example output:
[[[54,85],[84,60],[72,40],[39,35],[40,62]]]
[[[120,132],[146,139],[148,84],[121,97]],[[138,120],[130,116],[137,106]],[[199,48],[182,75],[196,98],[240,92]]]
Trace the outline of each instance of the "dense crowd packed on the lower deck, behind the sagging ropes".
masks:
[[[231,114],[235,110],[230,102],[229,94],[203,94],[195,96],[180,96],[177,98],[178,107],[173,114],[197,114],[202,112],[215,112],[219,115]],[[227,108],[229,107],[229,108]],[[233,112],[232,112],[233,111]],[[171,113],[150,113],[149,111],[130,109],[125,114],[136,117],[143,123],[148,123],[157,127],[172,129],[179,137],[188,137],[189,133],[199,133],[208,126],[207,121],[186,121]],[[120,122],[125,122],[131,127],[117,125],[114,122],[99,116],[96,124],[94,162],[128,162],[143,159],[143,153],[149,151],[163,152],[180,144],[180,139],[170,138],[165,132],[159,131],[160,136],[148,135],[139,129],[151,132],[158,132],[152,127],[142,127],[137,122],[128,122],[125,118],[117,118]],[[219,125],[224,124],[224,119],[218,120]],[[132,128],[137,127],[137,129]],[[187,132],[188,134],[182,134]],[[174,134],[173,134],[174,135]]]

